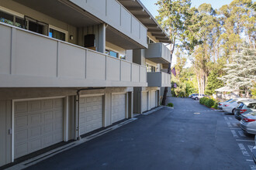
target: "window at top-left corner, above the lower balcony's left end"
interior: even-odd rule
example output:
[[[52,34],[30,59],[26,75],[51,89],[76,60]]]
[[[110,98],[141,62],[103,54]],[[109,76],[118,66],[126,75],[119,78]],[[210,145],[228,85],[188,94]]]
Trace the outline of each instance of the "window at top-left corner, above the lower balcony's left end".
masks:
[[[25,29],[25,19],[9,12],[0,11],[0,22]]]

